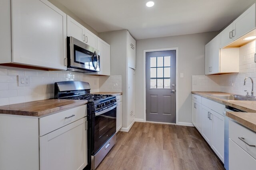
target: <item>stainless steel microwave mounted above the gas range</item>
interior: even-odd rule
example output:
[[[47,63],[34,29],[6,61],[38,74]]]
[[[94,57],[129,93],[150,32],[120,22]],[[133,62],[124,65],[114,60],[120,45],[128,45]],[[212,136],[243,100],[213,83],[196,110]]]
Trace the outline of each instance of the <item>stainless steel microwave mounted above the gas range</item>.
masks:
[[[67,46],[67,70],[76,72],[100,71],[100,51],[74,37],[67,37]]]

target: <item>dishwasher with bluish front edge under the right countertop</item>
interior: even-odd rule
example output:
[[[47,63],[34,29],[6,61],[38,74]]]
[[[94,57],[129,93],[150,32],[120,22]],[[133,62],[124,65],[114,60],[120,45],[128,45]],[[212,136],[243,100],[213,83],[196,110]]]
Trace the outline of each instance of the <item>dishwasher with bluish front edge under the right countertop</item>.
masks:
[[[230,118],[226,116],[226,111],[237,111],[237,112],[246,112],[246,111],[242,111],[240,109],[236,109],[231,106],[225,106],[225,111],[223,112],[223,115],[225,117],[224,118],[224,168],[226,170],[228,170],[229,169],[229,165],[228,165],[228,138],[229,138],[228,121],[230,120]]]

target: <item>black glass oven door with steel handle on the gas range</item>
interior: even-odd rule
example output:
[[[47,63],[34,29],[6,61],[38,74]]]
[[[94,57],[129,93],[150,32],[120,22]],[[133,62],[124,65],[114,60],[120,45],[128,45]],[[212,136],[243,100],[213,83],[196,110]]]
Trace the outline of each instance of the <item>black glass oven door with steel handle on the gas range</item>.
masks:
[[[94,154],[116,133],[116,104],[95,112]]]

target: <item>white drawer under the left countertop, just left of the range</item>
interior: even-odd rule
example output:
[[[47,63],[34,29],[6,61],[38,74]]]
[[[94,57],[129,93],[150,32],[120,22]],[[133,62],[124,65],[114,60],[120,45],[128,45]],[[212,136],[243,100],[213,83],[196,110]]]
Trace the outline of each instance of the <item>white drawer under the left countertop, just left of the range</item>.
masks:
[[[61,111],[52,115],[39,118],[39,135],[43,136],[60,127],[68,125],[87,115],[87,105]],[[71,117],[72,116],[72,117]]]

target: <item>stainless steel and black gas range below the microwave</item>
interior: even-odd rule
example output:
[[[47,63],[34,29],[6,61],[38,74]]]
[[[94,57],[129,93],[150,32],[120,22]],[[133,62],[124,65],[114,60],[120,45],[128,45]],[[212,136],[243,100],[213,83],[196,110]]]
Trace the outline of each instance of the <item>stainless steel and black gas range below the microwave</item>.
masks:
[[[116,143],[116,97],[90,94],[90,84],[80,81],[56,82],[54,98],[88,100],[88,166],[96,169]]]

